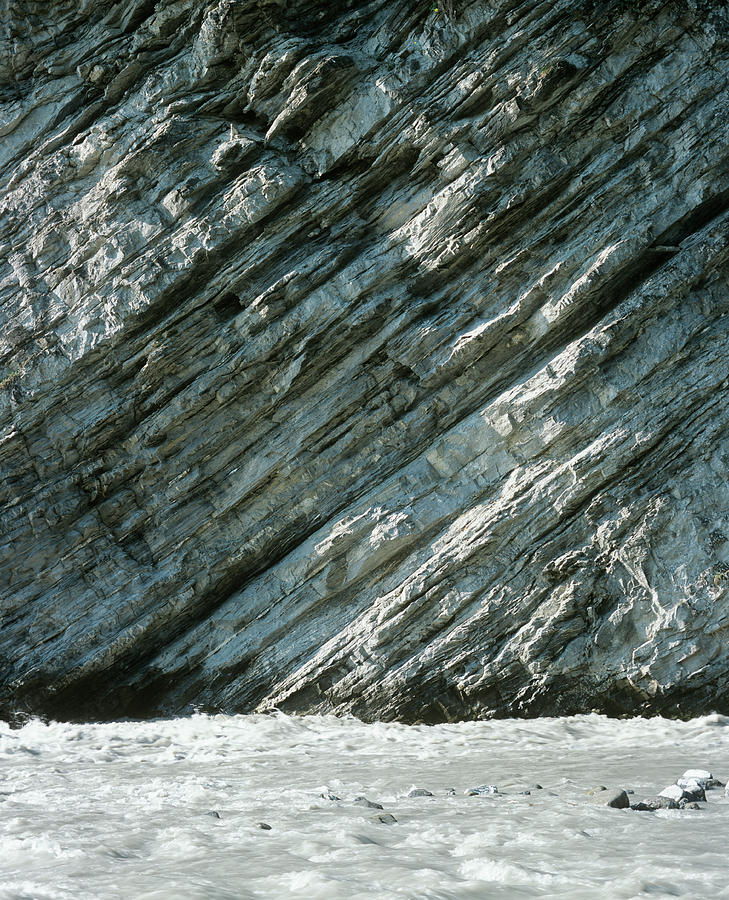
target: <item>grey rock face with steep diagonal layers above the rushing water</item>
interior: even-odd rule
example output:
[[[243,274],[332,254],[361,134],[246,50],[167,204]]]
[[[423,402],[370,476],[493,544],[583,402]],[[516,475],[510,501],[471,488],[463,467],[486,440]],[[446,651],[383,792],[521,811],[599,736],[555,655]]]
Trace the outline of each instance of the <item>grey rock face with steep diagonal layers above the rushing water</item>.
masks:
[[[725,4],[1,8],[3,715],[729,711]]]

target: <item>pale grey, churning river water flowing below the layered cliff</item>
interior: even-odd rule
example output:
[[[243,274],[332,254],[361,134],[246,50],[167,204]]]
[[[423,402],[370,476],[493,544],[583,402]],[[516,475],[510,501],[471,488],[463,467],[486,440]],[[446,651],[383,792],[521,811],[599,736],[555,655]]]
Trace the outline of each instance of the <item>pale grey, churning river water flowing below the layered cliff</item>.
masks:
[[[587,795],[637,801],[690,767],[726,781],[728,725],[0,723],[0,900],[729,896],[722,791],[701,811],[651,813]],[[474,784],[498,793],[464,796]]]

